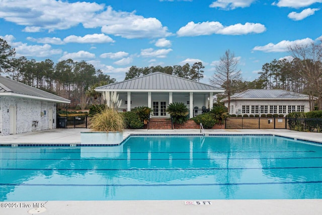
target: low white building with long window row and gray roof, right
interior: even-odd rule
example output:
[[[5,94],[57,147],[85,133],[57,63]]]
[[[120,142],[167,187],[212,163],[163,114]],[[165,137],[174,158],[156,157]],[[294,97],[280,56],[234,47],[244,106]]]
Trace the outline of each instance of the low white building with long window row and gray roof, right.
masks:
[[[228,106],[228,98],[221,100]],[[286,90],[246,90],[230,97],[229,114],[278,114],[310,111],[308,95]]]

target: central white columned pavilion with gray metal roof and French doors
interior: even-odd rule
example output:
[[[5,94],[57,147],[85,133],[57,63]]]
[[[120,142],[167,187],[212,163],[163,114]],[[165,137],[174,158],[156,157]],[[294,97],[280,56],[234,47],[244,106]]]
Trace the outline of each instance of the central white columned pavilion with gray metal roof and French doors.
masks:
[[[130,111],[134,107],[152,108],[151,117],[166,118],[166,109],[173,102],[187,105],[190,118],[202,108],[213,107],[213,96],[223,89],[164,73],[151,73],[142,77],[95,88],[95,91],[117,92],[122,104],[119,108]],[[197,111],[197,112],[196,112]]]

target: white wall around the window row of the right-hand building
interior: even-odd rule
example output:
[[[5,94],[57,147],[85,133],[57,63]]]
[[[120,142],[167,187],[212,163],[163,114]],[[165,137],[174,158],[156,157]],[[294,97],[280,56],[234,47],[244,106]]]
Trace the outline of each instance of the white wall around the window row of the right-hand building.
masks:
[[[228,102],[224,104],[226,107],[228,106]],[[250,113],[246,113],[248,115],[253,114],[251,113],[251,106],[252,105],[268,105],[268,113],[270,113],[270,106],[277,105],[277,114],[288,114],[288,106],[295,105],[295,111],[297,111],[297,106],[304,105],[304,112],[309,111],[309,102],[305,100],[232,100],[230,101],[230,113],[229,114],[237,114],[238,109],[240,109],[240,114],[243,115],[243,105],[250,105]],[[279,112],[279,106],[286,105],[286,113]],[[232,107],[233,106],[233,110]],[[273,114],[273,113],[271,113]]]

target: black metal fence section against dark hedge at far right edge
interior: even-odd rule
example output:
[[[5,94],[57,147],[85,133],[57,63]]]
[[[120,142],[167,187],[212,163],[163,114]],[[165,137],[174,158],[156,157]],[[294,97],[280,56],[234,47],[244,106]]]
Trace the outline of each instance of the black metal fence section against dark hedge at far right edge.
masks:
[[[322,132],[321,118],[288,118],[287,120],[290,130]]]

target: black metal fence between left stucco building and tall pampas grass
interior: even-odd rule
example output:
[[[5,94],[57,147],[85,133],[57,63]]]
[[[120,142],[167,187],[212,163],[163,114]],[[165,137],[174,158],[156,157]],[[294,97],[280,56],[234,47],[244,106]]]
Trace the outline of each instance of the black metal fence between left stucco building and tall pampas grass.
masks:
[[[57,128],[91,128],[90,116],[58,116]]]

